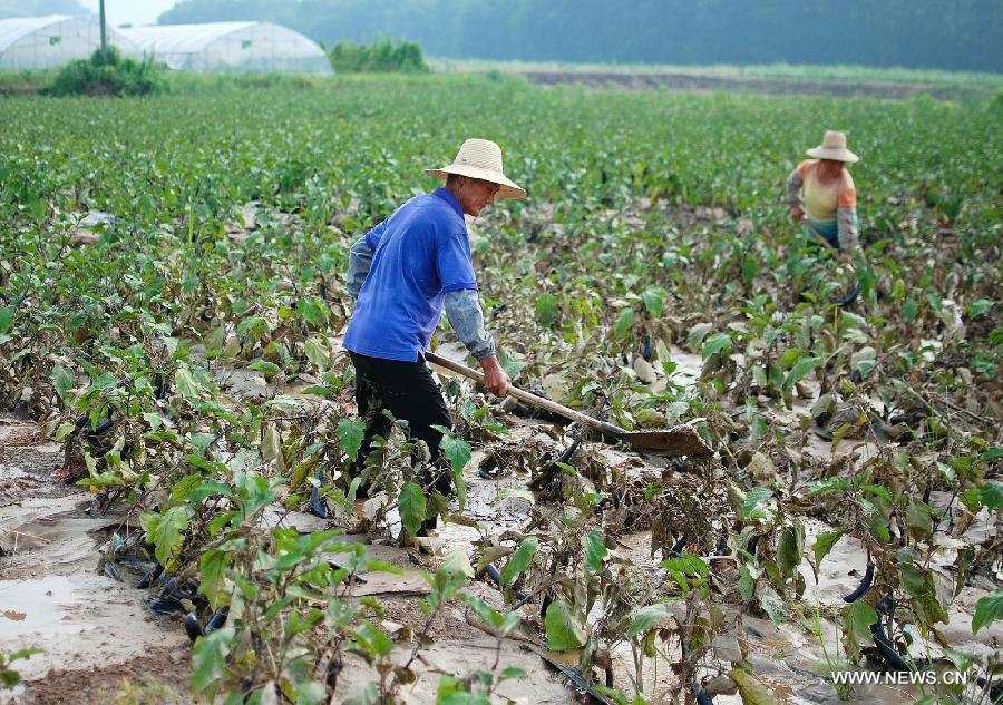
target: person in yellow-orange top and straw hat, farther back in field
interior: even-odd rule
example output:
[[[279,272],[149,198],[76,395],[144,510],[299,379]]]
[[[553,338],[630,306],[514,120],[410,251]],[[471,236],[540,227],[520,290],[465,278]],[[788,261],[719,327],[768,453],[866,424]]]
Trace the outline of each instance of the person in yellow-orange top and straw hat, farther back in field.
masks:
[[[809,241],[825,241],[848,262],[857,247],[857,190],[846,165],[858,157],[846,148],[846,134],[837,130],[826,130],[808,156],[815,158],[801,161],[787,178],[790,215],[805,222]]]

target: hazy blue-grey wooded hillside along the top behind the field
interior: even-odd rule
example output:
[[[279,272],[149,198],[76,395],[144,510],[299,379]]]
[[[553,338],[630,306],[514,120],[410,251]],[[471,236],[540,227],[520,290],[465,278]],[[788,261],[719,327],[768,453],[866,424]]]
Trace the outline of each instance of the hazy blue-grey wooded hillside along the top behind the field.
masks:
[[[76,0],[0,0],[0,13],[57,4]],[[451,58],[1003,72],[1000,0],[182,0],[160,16],[218,20],[277,22],[328,45],[407,38]]]

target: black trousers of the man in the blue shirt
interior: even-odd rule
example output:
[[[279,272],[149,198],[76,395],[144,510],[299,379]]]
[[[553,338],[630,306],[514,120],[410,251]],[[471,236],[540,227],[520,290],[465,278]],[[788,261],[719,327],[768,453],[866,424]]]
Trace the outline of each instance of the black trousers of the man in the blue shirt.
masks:
[[[426,490],[435,488],[442,495],[449,495],[452,481],[439,449],[442,433],[431,427],[441,425],[451,430],[452,417],[425,360],[402,362],[351,351],[349,355],[356,366],[356,405],[359,415],[367,421],[360,463],[369,454],[372,439],[377,435],[386,438],[390,433],[390,420],[379,413],[381,409],[389,409],[396,419],[408,422],[411,438],[420,439],[428,445],[436,471],[419,478]],[[430,520],[428,527],[435,526],[435,520]]]

